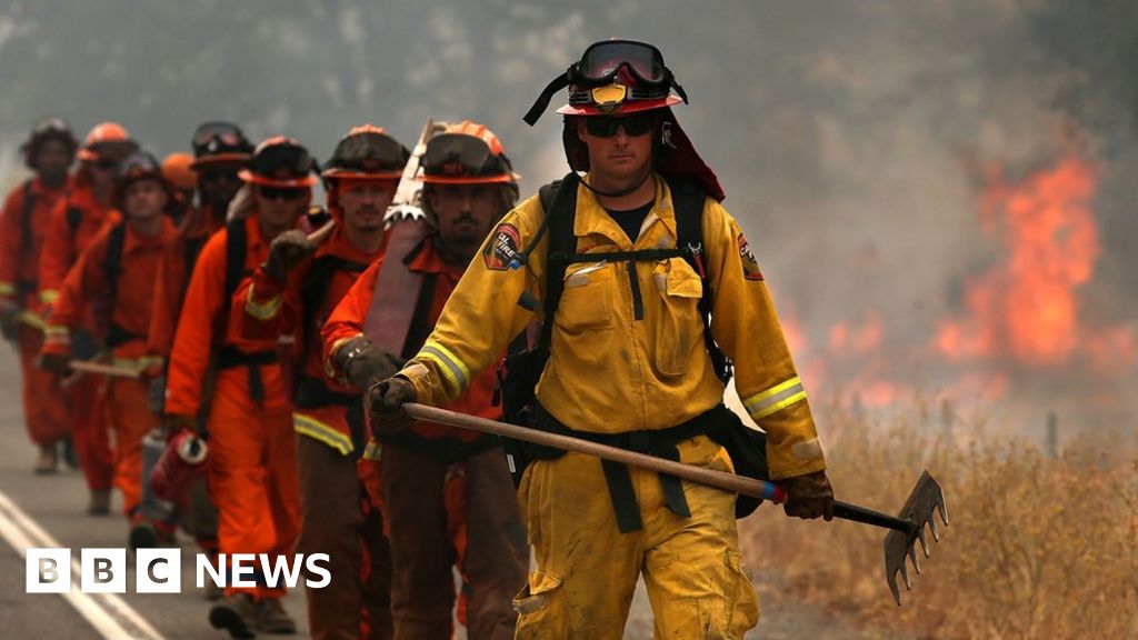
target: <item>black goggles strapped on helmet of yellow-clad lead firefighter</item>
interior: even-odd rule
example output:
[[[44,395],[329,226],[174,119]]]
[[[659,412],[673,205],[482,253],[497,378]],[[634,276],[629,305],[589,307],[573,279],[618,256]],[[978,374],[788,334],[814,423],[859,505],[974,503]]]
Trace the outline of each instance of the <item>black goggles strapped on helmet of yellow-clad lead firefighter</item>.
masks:
[[[628,85],[628,98],[634,100],[666,98],[675,89],[687,101],[687,93],[663,64],[659,49],[634,40],[604,40],[591,44],[580,60],[553,79],[522,120],[529,125],[536,123],[561,89],[570,88],[570,105],[582,105],[594,102],[593,89],[613,83]]]

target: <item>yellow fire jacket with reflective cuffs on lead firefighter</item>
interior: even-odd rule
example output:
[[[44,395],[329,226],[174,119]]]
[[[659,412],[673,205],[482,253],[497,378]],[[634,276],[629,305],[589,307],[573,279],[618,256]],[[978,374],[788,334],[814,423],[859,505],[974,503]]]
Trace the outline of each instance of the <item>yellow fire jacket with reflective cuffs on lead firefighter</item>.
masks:
[[[586,178],[587,180],[587,178]],[[676,246],[671,194],[657,177],[655,204],[630,243],[584,186],[577,191],[577,253]],[[522,292],[542,300],[549,238],[520,269],[514,254],[541,225],[537,197],[521,203],[483,245],[422,350],[401,374],[419,402],[453,401],[534,319]],[[714,292],[711,334],[735,363],[735,384],[767,432],[773,479],[825,468],[774,304],[750,246],[717,202],[703,207],[703,260]],[[633,286],[635,277],[637,286]],[[696,309],[699,273],[683,259],[569,266],[554,313],[551,356],[537,386],[542,405],[578,430],[622,433],[673,427],[723,401]],[[637,300],[638,298],[638,300]]]

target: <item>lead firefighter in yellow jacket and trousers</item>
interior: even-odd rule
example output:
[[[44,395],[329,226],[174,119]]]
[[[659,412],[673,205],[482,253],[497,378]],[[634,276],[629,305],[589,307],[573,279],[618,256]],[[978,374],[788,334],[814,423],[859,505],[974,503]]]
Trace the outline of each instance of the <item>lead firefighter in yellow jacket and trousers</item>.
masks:
[[[822,446],[769,293],[671,113],[684,93],[660,51],[591,46],[527,121],[566,87],[559,113],[574,173],[490,233],[419,354],[369,392],[374,422],[398,429],[402,403],[452,401],[542,312],[551,321],[538,344],[549,358],[537,428],[733,470],[708,435],[726,420],[725,354],[767,432],[787,512],[832,517]],[[684,231],[693,219],[698,238]],[[657,638],[742,638],[754,626],[734,495],[571,452],[536,457],[519,487],[537,566],[514,600],[517,638],[621,638],[641,575]]]

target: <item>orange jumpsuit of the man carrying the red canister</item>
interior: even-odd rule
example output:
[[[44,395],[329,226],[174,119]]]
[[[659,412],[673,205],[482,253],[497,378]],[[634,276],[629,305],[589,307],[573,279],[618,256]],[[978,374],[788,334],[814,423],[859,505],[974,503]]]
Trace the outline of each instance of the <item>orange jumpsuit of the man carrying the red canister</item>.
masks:
[[[269,256],[256,212],[244,221],[245,272]],[[299,530],[296,437],[292,405],[275,339],[249,339],[229,322],[225,298],[226,238],[213,235],[190,277],[166,371],[166,413],[192,417],[201,407],[203,381],[216,367],[209,396],[209,492],[220,514],[218,550],[232,553],[291,553]],[[284,561],[281,558],[281,561]],[[275,560],[273,560],[275,561]],[[280,597],[259,575],[257,586],[237,589]]]

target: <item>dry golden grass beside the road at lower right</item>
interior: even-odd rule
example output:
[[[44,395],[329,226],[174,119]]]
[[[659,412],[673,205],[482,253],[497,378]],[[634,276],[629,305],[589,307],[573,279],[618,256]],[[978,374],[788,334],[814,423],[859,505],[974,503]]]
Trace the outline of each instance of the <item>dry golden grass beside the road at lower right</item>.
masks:
[[[896,512],[927,468],[945,487],[950,526],[940,543],[930,536],[932,558],[922,556],[923,575],[909,572],[913,591],[901,585],[898,609],[882,530],[791,520],[764,506],[743,524],[743,544],[753,565],[785,574],[787,597],[917,638],[1138,638],[1132,438],[1079,438],[1052,459],[1023,440],[948,443],[918,420],[822,413],[840,435],[827,454],[839,498]]]

